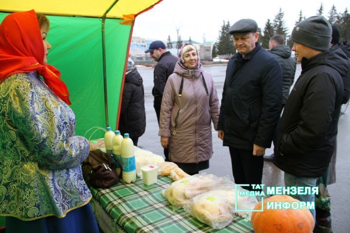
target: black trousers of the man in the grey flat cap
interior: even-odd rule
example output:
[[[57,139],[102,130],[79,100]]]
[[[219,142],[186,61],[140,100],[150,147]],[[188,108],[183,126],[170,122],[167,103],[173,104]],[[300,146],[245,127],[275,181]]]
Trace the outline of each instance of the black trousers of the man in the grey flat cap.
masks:
[[[249,184],[249,186],[242,188],[252,191],[251,184],[262,183],[262,156],[254,156],[253,150],[241,150],[233,147],[229,147],[229,152],[235,183]]]

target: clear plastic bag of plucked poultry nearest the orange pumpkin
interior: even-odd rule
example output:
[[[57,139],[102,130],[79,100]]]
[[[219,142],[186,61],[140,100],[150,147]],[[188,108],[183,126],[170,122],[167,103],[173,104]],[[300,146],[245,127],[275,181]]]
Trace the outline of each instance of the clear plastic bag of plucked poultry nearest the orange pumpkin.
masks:
[[[242,190],[241,187],[238,187]],[[253,197],[237,196],[238,209],[254,209],[258,203]],[[231,223],[235,214],[236,190],[233,187],[221,187],[189,200],[184,209],[191,216],[211,226],[223,229]]]

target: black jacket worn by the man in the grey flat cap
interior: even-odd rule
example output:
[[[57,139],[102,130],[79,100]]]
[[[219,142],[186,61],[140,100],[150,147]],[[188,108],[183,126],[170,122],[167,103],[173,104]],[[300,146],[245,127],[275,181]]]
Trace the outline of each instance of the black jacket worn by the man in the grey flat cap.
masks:
[[[224,131],[224,146],[271,147],[281,99],[282,70],[272,54],[259,44],[245,57],[236,53],[227,64],[220,107],[218,130]]]

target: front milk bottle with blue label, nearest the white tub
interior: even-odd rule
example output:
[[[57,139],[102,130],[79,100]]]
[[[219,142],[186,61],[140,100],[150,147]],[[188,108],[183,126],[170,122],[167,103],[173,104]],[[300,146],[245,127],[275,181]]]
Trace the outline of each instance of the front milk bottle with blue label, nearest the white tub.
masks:
[[[129,133],[124,133],[124,138],[122,140],[122,173],[125,183],[136,181],[134,143],[129,137]]]

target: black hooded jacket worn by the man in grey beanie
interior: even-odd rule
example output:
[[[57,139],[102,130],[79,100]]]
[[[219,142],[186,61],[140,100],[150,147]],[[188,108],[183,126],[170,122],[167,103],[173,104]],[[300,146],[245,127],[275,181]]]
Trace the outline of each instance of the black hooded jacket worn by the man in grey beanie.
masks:
[[[303,58],[277,127],[274,164],[300,177],[323,175],[331,161],[348,58],[339,48]]]

